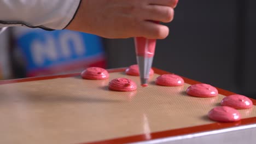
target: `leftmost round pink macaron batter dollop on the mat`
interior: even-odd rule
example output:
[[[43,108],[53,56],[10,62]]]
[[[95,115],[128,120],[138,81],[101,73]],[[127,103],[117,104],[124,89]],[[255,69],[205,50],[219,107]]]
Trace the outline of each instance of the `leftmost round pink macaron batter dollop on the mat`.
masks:
[[[89,80],[103,80],[108,79],[109,74],[106,69],[98,67],[90,67],[82,71],[81,76],[83,79]]]

